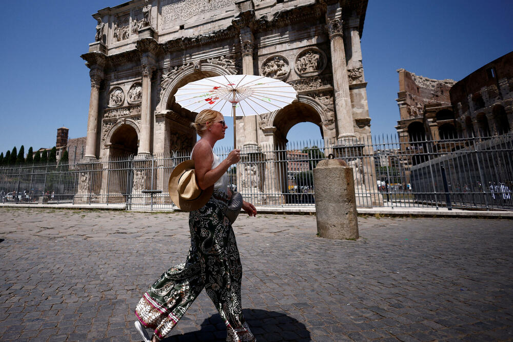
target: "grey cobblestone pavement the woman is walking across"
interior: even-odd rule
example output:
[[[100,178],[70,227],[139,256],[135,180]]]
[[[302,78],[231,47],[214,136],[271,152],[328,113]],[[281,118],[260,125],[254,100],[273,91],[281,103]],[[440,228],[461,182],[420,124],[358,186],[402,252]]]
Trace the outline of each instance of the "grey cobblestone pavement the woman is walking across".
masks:
[[[0,340],[139,341],[135,305],[189,248],[187,213],[0,208]],[[244,314],[259,341],[512,340],[511,220],[240,216]],[[224,340],[203,292],[165,341]]]

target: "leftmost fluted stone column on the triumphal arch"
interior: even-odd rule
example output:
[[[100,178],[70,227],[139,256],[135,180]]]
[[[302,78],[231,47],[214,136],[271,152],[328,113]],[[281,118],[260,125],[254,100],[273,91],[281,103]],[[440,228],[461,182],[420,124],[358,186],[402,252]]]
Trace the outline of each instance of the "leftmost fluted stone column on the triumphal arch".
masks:
[[[87,120],[86,152],[84,158],[96,158],[100,83],[104,75],[103,71],[99,69],[92,69],[89,75],[91,77],[91,97],[89,98],[89,118]]]

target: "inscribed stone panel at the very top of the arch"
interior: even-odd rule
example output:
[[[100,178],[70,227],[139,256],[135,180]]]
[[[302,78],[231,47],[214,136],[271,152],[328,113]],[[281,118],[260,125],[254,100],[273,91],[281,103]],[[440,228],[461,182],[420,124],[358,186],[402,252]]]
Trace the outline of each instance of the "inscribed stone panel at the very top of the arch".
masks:
[[[234,7],[233,0],[163,0],[161,2],[161,18],[159,27],[166,29],[177,26],[176,22],[187,22],[188,19],[208,14],[219,9],[230,9]]]

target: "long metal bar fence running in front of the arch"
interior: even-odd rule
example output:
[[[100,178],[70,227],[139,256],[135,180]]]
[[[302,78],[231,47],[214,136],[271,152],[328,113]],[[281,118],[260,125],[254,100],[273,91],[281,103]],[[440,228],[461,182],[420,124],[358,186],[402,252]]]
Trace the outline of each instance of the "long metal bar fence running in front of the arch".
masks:
[[[224,159],[231,148],[216,147]],[[332,154],[352,167],[358,207],[446,207],[513,210],[513,134],[399,142],[319,140],[242,148],[229,184],[262,207],[314,206],[313,168]],[[123,204],[173,208],[167,183],[189,151],[149,158],[122,156],[78,164],[0,167],[0,202]]]

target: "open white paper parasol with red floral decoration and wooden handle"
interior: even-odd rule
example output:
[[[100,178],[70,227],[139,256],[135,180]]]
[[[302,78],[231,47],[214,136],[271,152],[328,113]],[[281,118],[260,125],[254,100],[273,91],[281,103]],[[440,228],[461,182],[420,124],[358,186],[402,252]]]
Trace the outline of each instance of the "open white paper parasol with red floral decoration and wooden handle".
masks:
[[[279,79],[254,75],[222,75],[191,82],[178,89],[175,102],[191,112],[213,109],[233,116],[250,116],[281,109],[297,98],[297,91]]]

